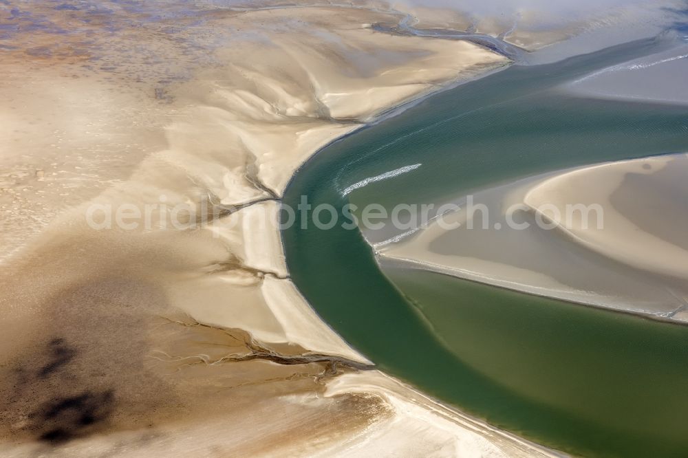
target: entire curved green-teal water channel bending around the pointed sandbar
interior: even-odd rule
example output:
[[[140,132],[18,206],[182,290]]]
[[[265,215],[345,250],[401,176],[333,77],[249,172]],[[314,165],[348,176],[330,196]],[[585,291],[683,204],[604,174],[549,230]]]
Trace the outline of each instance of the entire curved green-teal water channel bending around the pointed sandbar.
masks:
[[[656,52],[641,41],[510,67],[327,146],[284,202],[441,202],[544,171],[688,151],[685,107],[586,100],[557,86]],[[347,197],[353,183],[416,170]],[[688,456],[688,327],[438,274],[380,272],[356,230],[294,225],[288,266],[316,311],[385,371],[541,444],[600,457]],[[562,260],[565,262],[565,260]],[[390,281],[390,279],[392,281]],[[393,283],[394,282],[394,283]]]

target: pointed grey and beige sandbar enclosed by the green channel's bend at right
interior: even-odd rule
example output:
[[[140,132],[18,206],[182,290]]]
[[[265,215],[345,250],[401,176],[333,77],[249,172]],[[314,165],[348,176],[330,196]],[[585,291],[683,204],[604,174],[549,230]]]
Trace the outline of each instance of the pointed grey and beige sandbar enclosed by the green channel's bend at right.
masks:
[[[380,262],[681,320],[687,164],[685,155],[647,157],[484,190],[472,197],[474,212],[460,201],[445,217],[458,228],[432,223],[380,248]]]

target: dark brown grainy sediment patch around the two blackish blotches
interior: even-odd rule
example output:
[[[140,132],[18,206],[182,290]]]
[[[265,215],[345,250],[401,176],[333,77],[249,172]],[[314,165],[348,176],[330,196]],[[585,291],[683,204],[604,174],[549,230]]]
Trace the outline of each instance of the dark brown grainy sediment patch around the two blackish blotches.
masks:
[[[155,309],[164,298],[151,285],[116,278],[47,298],[43,318],[2,369],[3,435],[59,442],[178,411],[169,383],[144,368],[150,330],[141,301]]]

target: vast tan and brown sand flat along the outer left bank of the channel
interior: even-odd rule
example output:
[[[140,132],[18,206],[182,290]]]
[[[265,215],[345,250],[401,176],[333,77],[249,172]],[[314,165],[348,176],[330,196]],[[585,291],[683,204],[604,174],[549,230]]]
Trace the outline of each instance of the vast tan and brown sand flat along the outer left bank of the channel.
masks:
[[[4,453],[548,455],[372,371],[262,222],[327,142],[506,60],[396,13],[160,8],[3,11]]]

